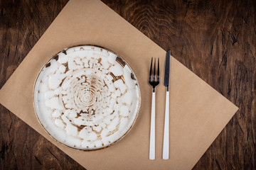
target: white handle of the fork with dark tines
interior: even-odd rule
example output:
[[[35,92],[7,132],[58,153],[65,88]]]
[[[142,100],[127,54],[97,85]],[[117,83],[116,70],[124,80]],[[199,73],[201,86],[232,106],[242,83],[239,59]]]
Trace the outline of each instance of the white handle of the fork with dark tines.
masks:
[[[151,103],[151,125],[150,125],[150,143],[149,143],[149,159],[155,159],[155,112],[156,112],[156,92],[153,89]]]

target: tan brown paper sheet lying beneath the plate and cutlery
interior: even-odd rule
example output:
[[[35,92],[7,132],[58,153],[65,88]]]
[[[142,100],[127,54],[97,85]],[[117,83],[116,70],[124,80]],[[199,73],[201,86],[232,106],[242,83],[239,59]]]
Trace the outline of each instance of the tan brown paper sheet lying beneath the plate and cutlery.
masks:
[[[107,149],[82,152],[60,145],[46,133],[33,110],[33,84],[43,64],[65,47],[94,44],[117,52],[134,70],[142,93],[137,121]],[[28,53],[0,91],[0,103],[86,169],[192,169],[238,110],[233,103],[171,57],[170,159],[161,159],[164,133],[166,52],[101,1],[72,0]],[[156,160],[149,160],[151,57],[161,62],[156,88]]]

